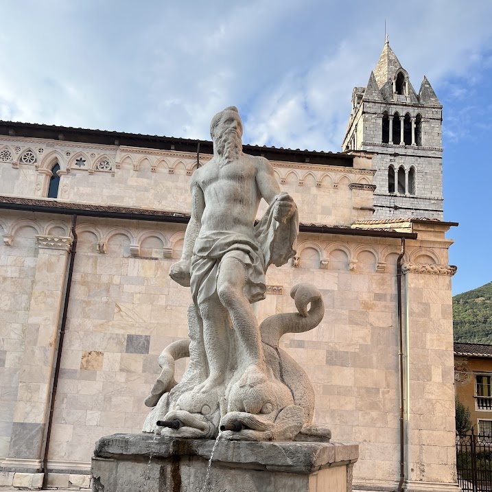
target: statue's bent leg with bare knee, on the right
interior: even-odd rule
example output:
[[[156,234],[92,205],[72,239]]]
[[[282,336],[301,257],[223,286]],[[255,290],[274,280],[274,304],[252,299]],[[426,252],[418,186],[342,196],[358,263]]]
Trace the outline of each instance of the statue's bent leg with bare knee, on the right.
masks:
[[[229,311],[237,337],[244,348],[246,367],[265,371],[263,347],[258,320],[244,294],[246,269],[239,259],[224,257],[220,262],[217,293],[220,302]]]

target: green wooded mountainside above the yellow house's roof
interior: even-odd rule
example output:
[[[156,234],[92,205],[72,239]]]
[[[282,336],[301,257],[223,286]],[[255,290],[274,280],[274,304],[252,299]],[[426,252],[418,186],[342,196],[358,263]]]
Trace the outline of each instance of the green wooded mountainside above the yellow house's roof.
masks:
[[[492,282],[453,297],[454,341],[492,344]]]

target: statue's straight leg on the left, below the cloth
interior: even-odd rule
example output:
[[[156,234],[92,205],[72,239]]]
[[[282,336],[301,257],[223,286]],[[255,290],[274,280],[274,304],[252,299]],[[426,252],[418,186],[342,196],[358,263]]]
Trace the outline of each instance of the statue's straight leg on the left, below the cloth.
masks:
[[[207,393],[224,382],[229,355],[229,316],[216,294],[200,303],[198,309],[203,321],[203,341],[209,364],[209,377],[197,390]]]

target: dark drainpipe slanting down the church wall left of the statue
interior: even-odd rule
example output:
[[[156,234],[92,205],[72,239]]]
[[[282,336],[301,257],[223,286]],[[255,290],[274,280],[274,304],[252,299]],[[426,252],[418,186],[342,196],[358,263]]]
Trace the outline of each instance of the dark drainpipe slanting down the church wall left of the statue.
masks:
[[[48,452],[49,452],[49,438],[51,437],[51,427],[53,427],[53,412],[55,408],[56,401],[56,389],[58,386],[58,377],[60,377],[60,362],[62,360],[62,349],[63,349],[63,340],[65,339],[65,325],[67,324],[67,312],[69,308],[69,298],[70,298],[70,288],[72,283],[72,274],[73,274],[73,261],[75,259],[75,250],[77,248],[77,233],[75,232],[75,225],[77,224],[77,215],[72,215],[72,225],[71,225],[71,233],[73,235],[73,243],[70,250],[70,259],[69,259],[69,269],[67,271],[67,279],[65,283],[65,300],[63,302],[63,311],[62,311],[62,320],[60,323],[60,336],[58,338],[58,350],[56,353],[56,364],[55,364],[55,373],[53,377],[53,386],[51,388],[51,401],[49,405],[49,416],[48,416],[48,427],[46,430],[46,444],[45,444],[45,452],[43,455],[43,489],[46,488],[48,482]]]

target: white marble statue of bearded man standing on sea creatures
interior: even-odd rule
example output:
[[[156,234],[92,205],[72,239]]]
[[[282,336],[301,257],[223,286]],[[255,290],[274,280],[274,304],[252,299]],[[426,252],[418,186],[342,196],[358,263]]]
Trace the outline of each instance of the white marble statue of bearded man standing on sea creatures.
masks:
[[[265,298],[265,273],[294,257],[298,212],[281,192],[273,167],[242,152],[242,121],[231,106],[211,121],[213,159],[191,179],[191,218],[183,255],[169,275],[191,288],[189,339],[161,353],[161,375],[145,405],[144,432],[230,440],[327,441],[312,424],[314,391],[301,366],[279,348],[284,333],[301,333],[323,319],[320,292],[292,288],[296,313],[258,324],[252,304]],[[259,203],[268,209],[255,224]],[[309,309],[308,309],[309,307]],[[189,357],[179,383],[174,362]],[[174,428],[173,428],[174,427]]]

